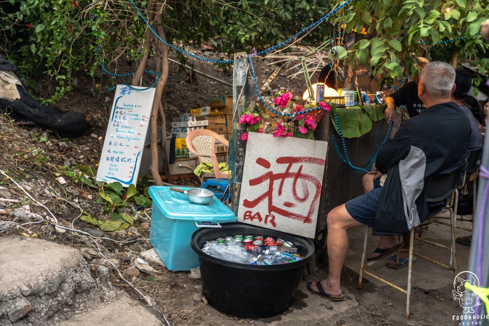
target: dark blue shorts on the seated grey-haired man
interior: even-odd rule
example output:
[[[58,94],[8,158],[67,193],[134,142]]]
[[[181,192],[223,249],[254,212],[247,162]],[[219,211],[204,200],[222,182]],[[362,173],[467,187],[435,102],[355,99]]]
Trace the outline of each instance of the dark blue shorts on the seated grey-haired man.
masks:
[[[345,203],[346,211],[348,211],[348,214],[350,214],[356,221],[372,227],[374,224],[375,213],[377,212],[380,192],[382,192],[382,187],[380,186],[380,178],[378,178],[374,181],[374,190]]]

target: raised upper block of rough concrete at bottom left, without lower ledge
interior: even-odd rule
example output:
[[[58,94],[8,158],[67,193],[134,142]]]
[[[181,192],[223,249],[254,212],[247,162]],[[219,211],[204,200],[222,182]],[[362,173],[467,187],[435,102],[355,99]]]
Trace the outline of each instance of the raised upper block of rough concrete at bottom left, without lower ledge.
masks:
[[[0,238],[0,325],[53,315],[94,286],[80,251],[24,236]]]

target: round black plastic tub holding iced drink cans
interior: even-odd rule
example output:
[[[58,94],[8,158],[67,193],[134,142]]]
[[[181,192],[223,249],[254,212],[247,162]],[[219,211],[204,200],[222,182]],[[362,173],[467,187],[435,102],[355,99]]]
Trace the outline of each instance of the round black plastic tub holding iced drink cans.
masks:
[[[201,251],[206,241],[251,234],[293,242],[302,260],[281,265],[247,265],[209,256]],[[230,223],[192,234],[192,249],[199,255],[202,293],[217,310],[238,317],[265,318],[289,309],[314,245],[304,237],[251,225]]]

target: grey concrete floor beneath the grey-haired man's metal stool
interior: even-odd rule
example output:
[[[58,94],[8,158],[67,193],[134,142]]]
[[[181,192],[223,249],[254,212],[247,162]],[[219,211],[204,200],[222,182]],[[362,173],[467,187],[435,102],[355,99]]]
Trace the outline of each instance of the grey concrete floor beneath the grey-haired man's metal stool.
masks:
[[[442,216],[449,216],[448,213],[444,213]],[[449,222],[449,220],[441,220]],[[457,222],[458,226],[471,228],[472,223]],[[360,272],[361,254],[363,249],[363,238],[365,234],[364,227],[353,228],[348,231],[350,239],[350,251],[345,260],[345,266],[355,271]],[[465,236],[471,234],[470,232],[459,230],[455,231],[455,236]],[[417,234],[416,234],[417,235]],[[422,238],[450,246],[450,227],[440,225],[437,223],[430,224],[423,228]],[[372,236],[372,230],[367,241],[367,253],[366,257],[370,256],[378,245],[379,236]],[[450,252],[443,248],[439,248],[421,241],[415,240],[414,242],[415,252],[436,259],[441,263],[448,265]],[[467,270],[469,259],[470,247],[462,244],[456,244],[457,254],[457,273]],[[393,256],[393,255],[391,255]],[[371,264],[368,271],[378,275],[383,279],[387,279],[390,282],[405,289],[407,286],[407,273],[408,268],[402,268],[399,270],[390,269],[385,266],[386,261],[391,257],[378,260]],[[413,264],[413,287],[420,287],[425,290],[435,290],[453,283],[453,271],[447,270],[441,266],[431,263],[425,259],[417,257],[416,262]],[[387,286],[385,283],[374,279],[370,276],[365,276],[366,279],[373,282],[377,286]]]

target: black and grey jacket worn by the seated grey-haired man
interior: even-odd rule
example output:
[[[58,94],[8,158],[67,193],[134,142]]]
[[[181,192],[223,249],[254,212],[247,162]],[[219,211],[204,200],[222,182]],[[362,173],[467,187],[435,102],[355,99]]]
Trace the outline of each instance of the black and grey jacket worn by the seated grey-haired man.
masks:
[[[470,121],[454,102],[431,106],[403,122],[378,151],[377,169],[389,174],[373,234],[404,234],[426,219],[427,178],[460,170],[466,162],[469,136]]]

